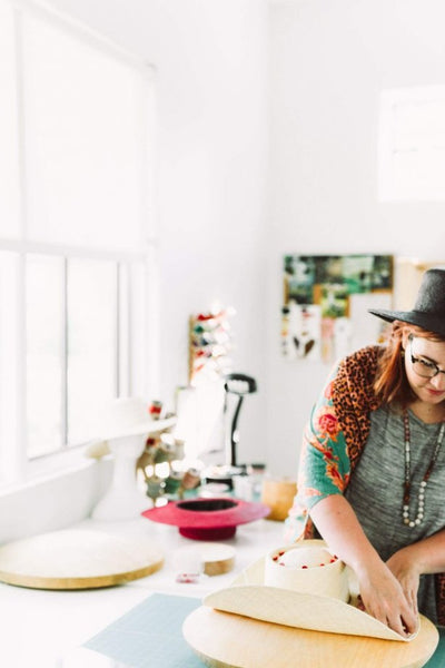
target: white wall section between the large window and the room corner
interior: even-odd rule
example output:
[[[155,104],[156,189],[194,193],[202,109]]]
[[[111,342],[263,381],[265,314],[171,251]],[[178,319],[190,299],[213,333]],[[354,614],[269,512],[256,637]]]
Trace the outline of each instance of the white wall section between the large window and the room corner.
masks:
[[[261,461],[267,197],[267,0],[51,0],[157,70],[155,205],[161,317],[155,397],[188,381],[188,317],[233,306],[235,371],[259,391],[240,415],[241,459]],[[255,315],[254,315],[255,314]],[[150,372],[152,369],[149,370]],[[157,396],[156,396],[157,395]]]

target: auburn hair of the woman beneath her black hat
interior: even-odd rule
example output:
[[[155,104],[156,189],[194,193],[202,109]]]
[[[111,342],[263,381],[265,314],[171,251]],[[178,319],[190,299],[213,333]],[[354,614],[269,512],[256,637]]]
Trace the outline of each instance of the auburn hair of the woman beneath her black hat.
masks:
[[[406,405],[416,399],[406,377],[403,350],[403,335],[408,332],[415,336],[445,342],[445,336],[428,332],[416,325],[394,321],[387,343],[378,358],[377,372],[374,379],[374,391],[382,403],[399,403]]]

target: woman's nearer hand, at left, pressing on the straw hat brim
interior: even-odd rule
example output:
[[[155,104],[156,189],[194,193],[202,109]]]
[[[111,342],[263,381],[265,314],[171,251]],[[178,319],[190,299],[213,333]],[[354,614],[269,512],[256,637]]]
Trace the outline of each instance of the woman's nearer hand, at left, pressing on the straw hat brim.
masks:
[[[407,598],[403,584],[387,564],[382,562],[377,569],[360,568],[356,574],[363,606],[368,615],[403,637],[417,630],[417,605]]]

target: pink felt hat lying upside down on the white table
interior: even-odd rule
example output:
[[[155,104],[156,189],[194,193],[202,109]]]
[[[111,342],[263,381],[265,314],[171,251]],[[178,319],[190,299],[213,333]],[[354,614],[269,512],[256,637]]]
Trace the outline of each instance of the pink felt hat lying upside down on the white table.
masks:
[[[225,540],[235,534],[238,524],[259,520],[269,512],[263,503],[220,498],[170,501],[167,505],[144,511],[142,515],[154,522],[178,527],[186,538]]]

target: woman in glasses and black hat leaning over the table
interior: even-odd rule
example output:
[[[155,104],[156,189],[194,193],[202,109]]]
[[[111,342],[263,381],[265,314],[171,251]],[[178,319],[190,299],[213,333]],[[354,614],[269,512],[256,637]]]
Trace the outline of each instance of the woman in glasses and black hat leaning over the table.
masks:
[[[424,274],[386,345],[343,360],[305,432],[294,538],[355,571],[367,612],[406,636],[445,625],[445,271]],[[288,533],[289,538],[289,533]]]

